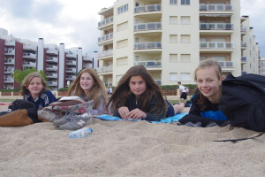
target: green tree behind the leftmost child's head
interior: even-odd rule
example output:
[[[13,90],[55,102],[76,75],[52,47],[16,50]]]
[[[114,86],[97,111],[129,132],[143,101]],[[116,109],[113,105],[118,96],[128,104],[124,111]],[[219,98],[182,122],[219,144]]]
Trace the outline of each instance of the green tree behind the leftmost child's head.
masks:
[[[33,72],[38,72],[38,71],[35,68],[26,68],[23,71],[17,69],[14,71],[14,73],[11,73],[11,76],[14,78],[14,81],[21,84],[24,78],[27,76],[27,74]],[[44,80],[47,81],[44,71],[41,70],[39,73],[41,73]]]

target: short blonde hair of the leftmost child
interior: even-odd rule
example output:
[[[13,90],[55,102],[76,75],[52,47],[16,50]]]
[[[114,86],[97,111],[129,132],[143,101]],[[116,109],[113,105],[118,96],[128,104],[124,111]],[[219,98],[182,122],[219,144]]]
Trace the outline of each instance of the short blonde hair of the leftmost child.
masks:
[[[25,96],[25,95],[28,95],[30,93],[30,91],[27,89],[27,86],[30,84],[30,81],[32,81],[34,79],[34,77],[39,77],[42,80],[43,88],[40,92],[40,95],[46,91],[47,83],[44,80],[44,78],[42,77],[42,74],[38,73],[38,72],[33,72],[33,73],[27,74],[27,76],[22,81],[21,89],[19,91],[20,96]]]

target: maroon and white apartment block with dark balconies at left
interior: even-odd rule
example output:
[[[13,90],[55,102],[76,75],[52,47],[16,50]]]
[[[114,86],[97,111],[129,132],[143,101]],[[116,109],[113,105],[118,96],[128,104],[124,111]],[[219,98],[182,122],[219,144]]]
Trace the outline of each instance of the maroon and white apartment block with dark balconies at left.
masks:
[[[4,31],[5,32],[5,31]],[[44,70],[49,89],[68,87],[83,68],[94,67],[94,58],[82,54],[82,48],[64,49],[64,43],[44,44],[44,39],[31,42],[12,35],[0,35],[0,89],[19,89],[11,78],[14,70],[26,67]]]

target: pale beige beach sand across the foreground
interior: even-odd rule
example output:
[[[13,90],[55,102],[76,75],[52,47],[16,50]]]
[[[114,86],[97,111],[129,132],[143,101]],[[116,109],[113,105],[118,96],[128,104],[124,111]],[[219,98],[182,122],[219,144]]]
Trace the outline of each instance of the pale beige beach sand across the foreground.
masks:
[[[4,111],[7,106],[0,106]],[[186,109],[188,111],[188,109]],[[264,176],[265,135],[244,128],[93,119],[68,139],[52,123],[0,127],[0,176]]]

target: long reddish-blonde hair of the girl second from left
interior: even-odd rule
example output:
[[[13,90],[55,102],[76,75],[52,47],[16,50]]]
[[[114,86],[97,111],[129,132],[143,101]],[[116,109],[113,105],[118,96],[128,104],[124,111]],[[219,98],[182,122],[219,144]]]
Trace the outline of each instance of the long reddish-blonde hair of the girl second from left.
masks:
[[[70,89],[68,89],[66,96],[80,96],[80,94],[85,95],[84,89],[82,89],[80,86],[80,78],[81,78],[82,73],[89,73],[95,82],[95,85],[92,87],[92,89],[87,94],[88,97],[94,100],[93,109],[96,109],[97,106],[99,105],[100,96],[103,97],[104,105],[106,105],[107,100],[108,100],[108,94],[107,94],[106,87],[104,83],[101,81],[101,79],[98,77],[97,73],[95,72],[95,69],[91,67],[87,67],[86,69],[83,69],[79,73],[79,75],[76,77],[76,79],[72,81],[71,87]]]

